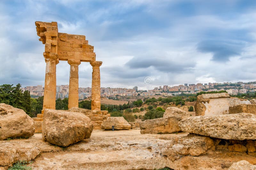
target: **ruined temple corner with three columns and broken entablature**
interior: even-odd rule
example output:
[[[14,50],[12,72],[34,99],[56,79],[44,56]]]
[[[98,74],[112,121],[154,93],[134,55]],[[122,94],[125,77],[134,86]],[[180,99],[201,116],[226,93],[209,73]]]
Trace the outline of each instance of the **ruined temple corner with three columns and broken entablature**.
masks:
[[[100,66],[96,61],[93,46],[85,40],[85,35],[73,35],[58,32],[57,22],[36,21],[39,41],[45,44],[46,62],[44,84],[44,109],[55,109],[56,100],[56,65],[59,60],[68,61],[70,65],[68,109],[78,107],[78,66],[81,62],[92,65],[92,110],[100,111]],[[43,116],[43,115],[42,115]]]

